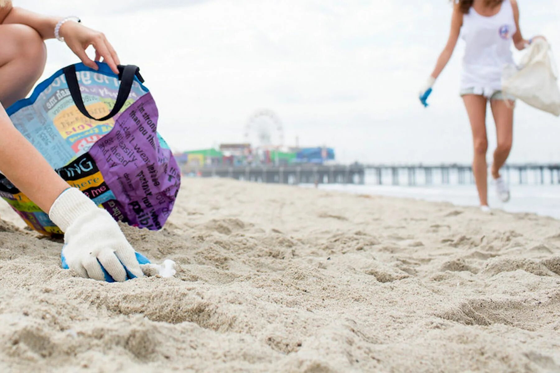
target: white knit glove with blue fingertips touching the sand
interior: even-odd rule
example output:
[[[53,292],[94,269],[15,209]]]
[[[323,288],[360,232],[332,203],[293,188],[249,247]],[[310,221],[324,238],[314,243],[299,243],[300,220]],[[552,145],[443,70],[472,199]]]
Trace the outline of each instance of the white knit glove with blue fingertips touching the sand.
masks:
[[[115,281],[142,277],[134,249],[108,211],[100,209],[77,188],[68,188],[50,207],[49,218],[64,232],[62,256],[82,277]],[[130,273],[127,277],[127,270]]]

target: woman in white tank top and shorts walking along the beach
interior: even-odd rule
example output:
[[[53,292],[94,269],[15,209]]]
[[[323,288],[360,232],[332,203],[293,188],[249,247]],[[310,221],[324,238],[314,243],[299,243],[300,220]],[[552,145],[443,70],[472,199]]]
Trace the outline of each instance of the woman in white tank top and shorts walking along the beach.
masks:
[[[451,58],[459,35],[466,43],[459,94],[465,103],[473,133],[473,173],[480,208],[489,211],[486,164],[487,101],[490,102],[496,123],[497,138],[490,169],[498,197],[507,202],[510,199],[510,191],[500,176],[500,168],[510,154],[514,99],[506,97],[501,91],[502,70],[504,65],[514,63],[511,54],[512,42],[515,48],[521,50],[534,38],[525,40],[521,36],[516,0],[455,0],[449,39],[437,59],[435,69],[420,91],[420,100],[424,106],[427,106],[426,98],[431,93],[433,83]]]

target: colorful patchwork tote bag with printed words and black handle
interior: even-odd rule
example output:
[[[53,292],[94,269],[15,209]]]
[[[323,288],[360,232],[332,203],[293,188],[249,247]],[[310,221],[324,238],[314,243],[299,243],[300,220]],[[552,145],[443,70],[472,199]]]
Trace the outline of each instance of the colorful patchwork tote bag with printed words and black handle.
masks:
[[[7,108],[13,124],[72,187],[115,220],[162,228],[180,172],[157,133],[156,103],[134,65],[70,65]],[[0,196],[30,228],[61,234],[48,215],[0,174]]]

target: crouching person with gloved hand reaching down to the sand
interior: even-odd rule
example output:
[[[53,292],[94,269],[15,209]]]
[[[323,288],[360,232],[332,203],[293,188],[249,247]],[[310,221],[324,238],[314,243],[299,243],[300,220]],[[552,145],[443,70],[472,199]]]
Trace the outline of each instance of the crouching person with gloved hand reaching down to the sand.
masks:
[[[114,73],[119,64],[113,47],[101,32],[81,25],[76,17],[46,17],[0,0],[0,170],[64,232],[63,254],[68,267],[83,277],[104,280],[101,265],[116,281],[142,276],[134,249],[111,215],[50,168],[41,154],[13,126],[7,107],[24,98],[43,73],[43,40],[57,37],[82,60],[93,45],[95,60]]]

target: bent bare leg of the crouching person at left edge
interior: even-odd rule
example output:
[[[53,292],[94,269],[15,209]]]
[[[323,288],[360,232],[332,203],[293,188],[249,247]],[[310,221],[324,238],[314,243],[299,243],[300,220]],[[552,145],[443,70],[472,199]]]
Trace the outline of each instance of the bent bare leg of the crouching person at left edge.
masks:
[[[46,48],[25,25],[0,25],[0,103],[8,107],[25,98],[43,74]]]

